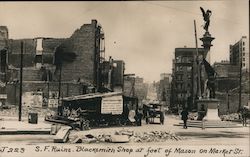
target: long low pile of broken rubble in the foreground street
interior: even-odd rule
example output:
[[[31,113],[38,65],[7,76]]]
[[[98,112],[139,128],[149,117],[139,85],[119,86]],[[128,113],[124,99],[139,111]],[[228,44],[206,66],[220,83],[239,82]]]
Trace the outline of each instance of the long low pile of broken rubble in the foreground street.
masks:
[[[184,140],[183,137],[167,131],[150,131],[135,132],[130,130],[120,130],[114,133],[104,133],[97,135],[74,135],[69,137],[70,143],[96,143],[96,142],[112,142],[112,143],[147,143],[147,142],[165,142],[168,140],[179,141]]]

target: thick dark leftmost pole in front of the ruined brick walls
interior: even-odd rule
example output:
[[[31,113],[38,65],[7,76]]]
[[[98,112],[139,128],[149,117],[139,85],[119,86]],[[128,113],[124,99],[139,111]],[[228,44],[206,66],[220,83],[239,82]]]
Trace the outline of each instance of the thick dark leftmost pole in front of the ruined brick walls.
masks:
[[[19,91],[19,113],[18,120],[22,120],[22,86],[23,86],[23,41],[21,41],[21,60],[20,60],[20,91]]]

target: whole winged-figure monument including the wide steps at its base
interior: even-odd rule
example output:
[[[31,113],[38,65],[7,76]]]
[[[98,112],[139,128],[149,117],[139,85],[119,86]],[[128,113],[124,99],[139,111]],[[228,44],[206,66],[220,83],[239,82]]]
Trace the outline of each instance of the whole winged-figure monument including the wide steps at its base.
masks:
[[[187,125],[189,127],[200,128],[224,128],[224,127],[239,127],[232,122],[221,121],[218,113],[220,101],[215,98],[215,79],[216,72],[210,65],[210,48],[213,46],[211,43],[215,39],[208,31],[210,25],[211,10],[205,11],[200,7],[204,19],[205,33],[200,40],[202,47],[205,50],[204,54],[198,53],[197,37],[196,37],[196,24],[195,24],[195,39],[196,39],[196,63],[195,69],[197,70],[197,91],[195,93],[195,102],[197,104],[198,117],[196,120],[189,120]],[[180,125],[182,125],[180,123]]]

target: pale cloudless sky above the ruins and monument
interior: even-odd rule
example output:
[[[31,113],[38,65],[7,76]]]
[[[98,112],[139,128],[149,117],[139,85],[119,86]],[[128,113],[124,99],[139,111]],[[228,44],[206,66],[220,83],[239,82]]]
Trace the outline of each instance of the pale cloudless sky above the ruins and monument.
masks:
[[[229,60],[229,45],[249,35],[248,6],[248,0],[0,2],[0,25],[8,27],[11,39],[68,38],[96,19],[107,59],[124,60],[125,73],[152,82],[172,72],[175,48],[195,47],[194,20],[198,38],[204,34],[200,7],[212,11],[211,64]]]

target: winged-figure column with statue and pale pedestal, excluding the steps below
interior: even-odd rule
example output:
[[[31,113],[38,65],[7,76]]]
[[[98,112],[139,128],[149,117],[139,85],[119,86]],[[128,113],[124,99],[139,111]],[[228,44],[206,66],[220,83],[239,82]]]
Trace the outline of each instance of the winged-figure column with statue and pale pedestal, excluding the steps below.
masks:
[[[209,64],[210,61],[210,47],[213,46],[211,42],[215,39],[211,36],[208,31],[210,25],[210,16],[212,15],[211,10],[207,10],[206,12],[202,7],[200,7],[204,19],[204,30],[205,33],[200,40],[203,42],[203,48],[206,51],[206,56],[198,56],[198,69],[201,70],[200,72],[200,79],[201,81],[199,84],[201,86],[199,88],[201,93],[198,93],[197,107],[198,107],[198,118],[197,120],[219,120],[219,113],[218,113],[218,106],[219,100],[215,99],[215,71]],[[208,57],[207,57],[208,56]],[[207,58],[207,60],[206,60]],[[202,73],[205,73],[202,75]]]

